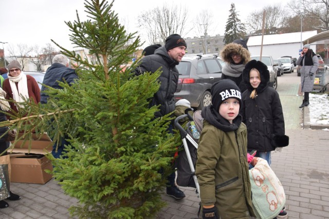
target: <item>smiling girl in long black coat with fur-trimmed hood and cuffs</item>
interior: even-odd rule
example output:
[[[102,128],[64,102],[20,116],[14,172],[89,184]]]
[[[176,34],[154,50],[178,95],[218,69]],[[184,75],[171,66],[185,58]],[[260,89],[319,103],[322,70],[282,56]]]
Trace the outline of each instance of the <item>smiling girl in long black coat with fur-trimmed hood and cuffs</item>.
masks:
[[[247,90],[242,94],[242,122],[248,130],[248,153],[257,150],[255,156],[271,164],[271,151],[281,151],[289,145],[285,135],[282,105],[278,92],[269,87],[267,66],[256,60],[247,63],[243,70]],[[283,209],[277,217],[286,217]]]

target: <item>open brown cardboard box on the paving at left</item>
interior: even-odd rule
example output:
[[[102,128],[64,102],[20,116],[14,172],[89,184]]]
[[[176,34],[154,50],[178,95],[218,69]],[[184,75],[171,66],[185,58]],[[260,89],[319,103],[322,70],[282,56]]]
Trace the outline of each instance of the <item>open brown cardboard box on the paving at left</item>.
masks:
[[[30,141],[24,140],[17,141],[14,148],[8,150],[11,182],[45,184],[52,178],[51,174],[45,172],[52,170],[52,164],[44,155],[51,152],[52,141],[46,133],[41,136],[33,134],[32,138],[30,150]]]

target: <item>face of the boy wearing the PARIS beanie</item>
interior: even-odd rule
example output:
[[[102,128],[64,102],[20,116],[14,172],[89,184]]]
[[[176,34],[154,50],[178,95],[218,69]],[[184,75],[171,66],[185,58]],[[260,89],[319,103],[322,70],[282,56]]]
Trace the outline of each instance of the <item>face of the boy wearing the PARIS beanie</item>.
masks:
[[[228,122],[232,124],[234,118],[239,114],[239,110],[240,110],[239,101],[234,97],[230,97],[228,99],[225,99],[225,101],[223,101],[223,103],[220,106],[219,112],[221,116],[226,118],[226,120],[228,120]]]

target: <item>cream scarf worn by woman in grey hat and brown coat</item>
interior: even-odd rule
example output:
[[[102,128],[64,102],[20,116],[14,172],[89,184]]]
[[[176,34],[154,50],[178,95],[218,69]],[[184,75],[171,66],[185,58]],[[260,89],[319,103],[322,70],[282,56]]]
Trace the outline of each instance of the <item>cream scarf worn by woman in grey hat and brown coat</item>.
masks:
[[[9,84],[10,84],[10,88],[12,91],[12,97],[13,97],[14,101],[16,101],[17,103],[25,102],[25,100],[29,98],[26,75],[23,72],[21,72],[21,74],[16,77],[12,77],[12,76],[8,75],[8,79],[9,79]],[[18,90],[17,90],[16,84],[15,84],[17,82],[18,82],[18,88],[19,88]],[[24,100],[24,98],[25,98],[25,100]]]

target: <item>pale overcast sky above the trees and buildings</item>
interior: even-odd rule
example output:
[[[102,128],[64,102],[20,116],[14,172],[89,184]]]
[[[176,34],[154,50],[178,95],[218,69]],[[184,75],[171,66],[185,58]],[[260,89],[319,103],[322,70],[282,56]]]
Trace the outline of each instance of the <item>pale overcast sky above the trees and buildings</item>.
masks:
[[[278,0],[284,7],[287,0]],[[167,4],[180,4],[189,10],[189,18],[197,16],[202,10],[211,11],[215,28],[208,31],[209,35],[224,34],[226,21],[229,15],[231,3],[240,15],[242,22],[252,11],[259,11],[270,4],[264,0],[116,0],[114,11],[118,13],[121,22],[130,32],[137,31],[137,17],[143,11],[151,10],[156,6]],[[53,39],[59,45],[72,49],[69,41],[69,30],[64,21],[75,21],[78,10],[81,21],[85,19],[83,0],[0,0],[0,42],[8,42],[10,45],[27,44],[44,47]],[[193,37],[189,33],[184,37]],[[5,44],[5,52],[8,44]],[[57,46],[52,44],[56,49]],[[144,44],[143,46],[147,46]],[[2,48],[2,44],[0,44]]]

